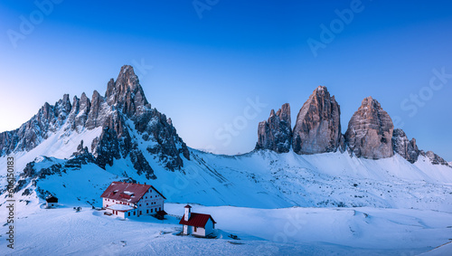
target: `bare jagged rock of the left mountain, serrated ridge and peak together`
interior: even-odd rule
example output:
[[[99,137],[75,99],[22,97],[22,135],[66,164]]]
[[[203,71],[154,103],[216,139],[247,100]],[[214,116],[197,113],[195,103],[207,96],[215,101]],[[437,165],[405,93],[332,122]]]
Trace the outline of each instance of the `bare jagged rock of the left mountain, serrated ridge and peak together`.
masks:
[[[138,175],[154,179],[148,159],[157,158],[171,171],[184,166],[181,156],[190,160],[188,147],[177,135],[173,122],[151,109],[134,69],[128,65],[121,68],[116,81],[108,81],[105,97],[94,90],[91,100],[82,93],[71,104],[65,94],[53,106],[45,103],[21,128],[0,133],[0,156],[31,150],[60,128],[64,128],[63,136],[102,128],[99,137],[86,146],[80,142],[80,148],[72,155],[79,160],[83,158],[80,164],[89,161],[105,168],[115,159],[130,159]],[[152,141],[149,143],[152,147],[142,151],[138,137]],[[149,153],[154,156],[146,159]]]

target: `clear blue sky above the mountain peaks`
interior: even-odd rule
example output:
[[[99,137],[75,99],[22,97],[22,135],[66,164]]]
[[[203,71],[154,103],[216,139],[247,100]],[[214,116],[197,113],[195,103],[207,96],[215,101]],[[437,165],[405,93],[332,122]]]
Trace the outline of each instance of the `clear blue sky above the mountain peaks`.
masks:
[[[290,103],[295,123],[325,85],[341,105],[343,132],[372,96],[420,148],[452,161],[449,1],[35,3],[0,4],[0,131],[64,93],[103,93],[131,64],[147,100],[190,147],[248,152],[270,109]],[[314,52],[313,40],[322,43]]]

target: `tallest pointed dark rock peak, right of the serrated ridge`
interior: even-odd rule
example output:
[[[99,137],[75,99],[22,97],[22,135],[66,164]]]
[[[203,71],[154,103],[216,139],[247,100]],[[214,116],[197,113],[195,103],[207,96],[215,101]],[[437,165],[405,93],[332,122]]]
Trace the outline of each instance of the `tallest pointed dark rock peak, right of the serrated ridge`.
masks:
[[[111,108],[111,113],[108,114],[105,107],[96,109],[102,104]],[[131,66],[121,68],[117,81],[108,81],[105,98],[95,92],[89,119],[91,112],[99,113],[96,120],[101,120],[104,128],[99,139],[91,146],[99,166],[112,165],[114,159],[129,156],[139,175],[146,174],[147,178],[155,178],[152,167],[143,155],[146,152],[138,148],[137,137],[130,134],[129,128],[135,128],[145,141],[155,142],[146,151],[157,156],[167,169],[174,171],[183,167],[181,155],[190,160],[188,147],[177,135],[172,122],[157,109],[151,109]],[[133,122],[133,127],[126,125],[126,119]],[[88,124],[89,120],[87,128]]]

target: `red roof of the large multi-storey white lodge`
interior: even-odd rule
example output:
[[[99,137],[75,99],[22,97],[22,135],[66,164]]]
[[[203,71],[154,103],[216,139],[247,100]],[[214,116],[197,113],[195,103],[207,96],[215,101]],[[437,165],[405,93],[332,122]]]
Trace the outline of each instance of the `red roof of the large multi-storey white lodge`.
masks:
[[[108,199],[114,199],[122,202],[137,203],[146,191],[152,188],[156,193],[160,194],[164,199],[165,196],[158,192],[153,185],[144,185],[136,183],[112,182],[108,188],[100,195]]]

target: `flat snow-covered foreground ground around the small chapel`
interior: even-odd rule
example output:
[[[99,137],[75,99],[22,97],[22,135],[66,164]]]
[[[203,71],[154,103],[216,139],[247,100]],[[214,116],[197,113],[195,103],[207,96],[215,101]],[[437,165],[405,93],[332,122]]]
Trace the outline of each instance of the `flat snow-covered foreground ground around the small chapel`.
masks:
[[[179,236],[178,219],[141,216],[120,220],[82,205],[16,210],[14,250],[0,240],[2,255],[447,255],[452,213],[411,209],[255,209],[193,205],[217,222],[217,239]],[[184,204],[165,211],[184,213]],[[4,214],[2,214],[4,215]],[[3,219],[3,216],[2,216]],[[6,226],[1,227],[5,236]],[[229,234],[239,236],[232,240]],[[437,253],[437,254],[434,254]],[[439,254],[438,254],[439,253]]]

